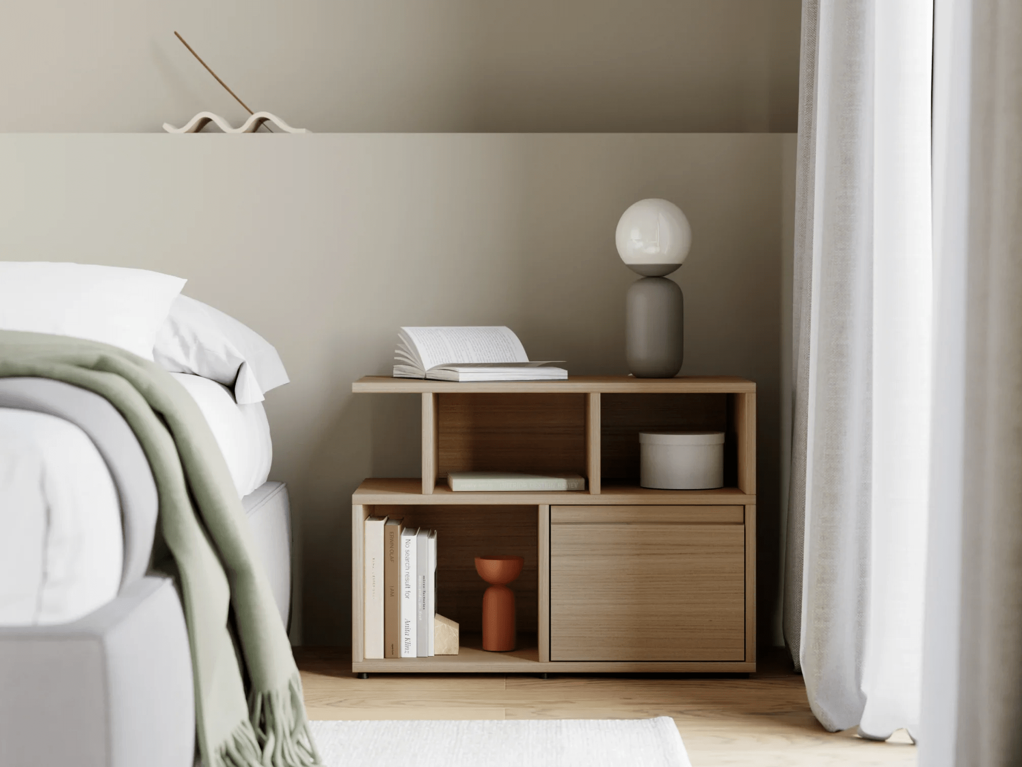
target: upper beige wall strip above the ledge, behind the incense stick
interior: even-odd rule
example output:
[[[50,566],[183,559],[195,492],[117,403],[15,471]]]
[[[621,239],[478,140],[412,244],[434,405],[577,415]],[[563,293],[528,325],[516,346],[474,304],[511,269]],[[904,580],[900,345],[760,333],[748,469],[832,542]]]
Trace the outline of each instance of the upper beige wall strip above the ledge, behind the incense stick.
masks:
[[[89,0],[0,8],[0,131],[252,108],[329,131],[794,131],[799,0]]]

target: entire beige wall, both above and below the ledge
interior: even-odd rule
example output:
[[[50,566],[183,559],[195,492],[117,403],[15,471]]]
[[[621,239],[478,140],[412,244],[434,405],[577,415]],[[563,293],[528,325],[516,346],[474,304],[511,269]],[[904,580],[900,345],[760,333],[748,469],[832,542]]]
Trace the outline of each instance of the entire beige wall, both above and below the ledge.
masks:
[[[293,638],[346,644],[346,497],[418,470],[417,402],[353,397],[352,379],[387,370],[399,325],[432,323],[506,323],[535,357],[624,372],[634,275],[614,224],[636,199],[672,199],[694,233],[675,275],[683,373],[760,386],[760,636],[776,639],[794,178],[779,132],[796,127],[800,5],[8,3],[0,132],[21,135],[0,136],[0,259],[179,274],[277,345],[293,380],[267,403],[294,505]],[[138,135],[245,117],[175,30],[253,109],[317,134]]]

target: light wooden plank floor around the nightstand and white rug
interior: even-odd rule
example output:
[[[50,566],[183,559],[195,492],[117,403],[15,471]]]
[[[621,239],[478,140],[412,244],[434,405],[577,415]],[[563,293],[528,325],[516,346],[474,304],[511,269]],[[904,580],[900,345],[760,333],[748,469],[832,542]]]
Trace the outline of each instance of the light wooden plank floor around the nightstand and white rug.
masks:
[[[903,731],[887,742],[827,732],[783,653],[748,679],[725,675],[406,674],[357,679],[346,653],[295,647],[310,719],[619,719],[669,716],[693,767],[915,765]]]

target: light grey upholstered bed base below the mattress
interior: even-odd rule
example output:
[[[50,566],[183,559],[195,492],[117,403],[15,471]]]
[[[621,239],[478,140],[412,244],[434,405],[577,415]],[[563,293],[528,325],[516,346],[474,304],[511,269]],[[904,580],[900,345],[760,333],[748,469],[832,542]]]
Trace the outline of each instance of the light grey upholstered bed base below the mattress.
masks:
[[[287,621],[287,488],[244,498],[257,550]],[[192,671],[171,580],[143,577],[73,623],[0,628],[0,765],[191,767]]]

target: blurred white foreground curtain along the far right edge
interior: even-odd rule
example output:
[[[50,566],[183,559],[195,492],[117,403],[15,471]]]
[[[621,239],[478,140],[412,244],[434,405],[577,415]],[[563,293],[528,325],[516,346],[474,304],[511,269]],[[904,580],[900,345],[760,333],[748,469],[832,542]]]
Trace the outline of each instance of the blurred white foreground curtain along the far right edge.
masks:
[[[1022,765],[1022,2],[937,0],[921,767]]]

